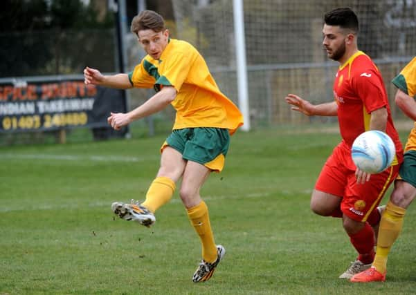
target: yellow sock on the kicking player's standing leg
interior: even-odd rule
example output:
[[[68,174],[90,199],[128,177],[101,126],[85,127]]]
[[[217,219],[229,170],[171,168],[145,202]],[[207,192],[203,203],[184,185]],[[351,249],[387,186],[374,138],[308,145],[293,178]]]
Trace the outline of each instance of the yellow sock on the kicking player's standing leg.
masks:
[[[199,238],[201,238],[202,258],[208,263],[213,263],[218,254],[206,203],[202,201],[197,206],[188,209],[188,217]]]

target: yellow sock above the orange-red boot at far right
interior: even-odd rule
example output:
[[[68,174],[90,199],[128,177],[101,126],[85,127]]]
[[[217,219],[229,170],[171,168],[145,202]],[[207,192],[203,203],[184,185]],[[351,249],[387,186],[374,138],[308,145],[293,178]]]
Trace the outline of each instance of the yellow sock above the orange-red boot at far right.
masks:
[[[372,266],[381,272],[381,274],[384,274],[387,270],[388,253],[403,227],[405,213],[406,209],[398,207],[392,202],[388,202],[386,211],[381,216],[376,256],[372,263]]]

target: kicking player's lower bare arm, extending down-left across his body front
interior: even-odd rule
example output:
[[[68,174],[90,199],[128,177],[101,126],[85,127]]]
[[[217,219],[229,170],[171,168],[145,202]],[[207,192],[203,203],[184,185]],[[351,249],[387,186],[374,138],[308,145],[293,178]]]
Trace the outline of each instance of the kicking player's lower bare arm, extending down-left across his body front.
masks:
[[[177,90],[172,86],[165,86],[150,99],[147,99],[144,104],[134,108],[133,111],[129,111],[129,113],[111,113],[107,118],[107,122],[112,128],[120,130],[121,127],[133,121],[163,110],[163,108],[173,102],[175,97],[177,97]]]

